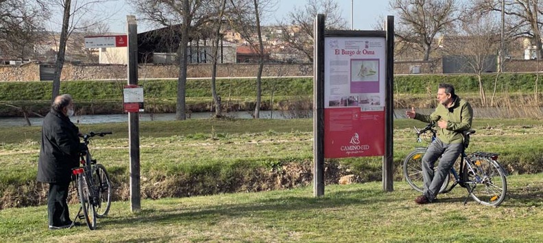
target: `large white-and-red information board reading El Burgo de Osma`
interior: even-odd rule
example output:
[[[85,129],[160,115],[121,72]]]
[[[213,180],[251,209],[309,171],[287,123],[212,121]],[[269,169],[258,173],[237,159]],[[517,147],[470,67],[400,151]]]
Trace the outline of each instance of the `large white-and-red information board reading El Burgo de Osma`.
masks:
[[[386,38],[324,38],[324,157],[385,154]]]

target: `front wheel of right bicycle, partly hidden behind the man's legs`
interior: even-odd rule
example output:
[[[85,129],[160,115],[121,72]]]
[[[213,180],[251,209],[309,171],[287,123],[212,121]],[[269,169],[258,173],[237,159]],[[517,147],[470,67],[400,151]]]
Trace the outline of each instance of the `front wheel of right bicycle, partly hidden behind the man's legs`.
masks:
[[[425,148],[417,148],[405,157],[403,162],[404,178],[411,188],[422,192],[424,190],[424,179],[422,179],[422,157],[426,153]],[[434,168],[435,169],[435,168]],[[446,190],[450,176],[447,174],[439,192]]]

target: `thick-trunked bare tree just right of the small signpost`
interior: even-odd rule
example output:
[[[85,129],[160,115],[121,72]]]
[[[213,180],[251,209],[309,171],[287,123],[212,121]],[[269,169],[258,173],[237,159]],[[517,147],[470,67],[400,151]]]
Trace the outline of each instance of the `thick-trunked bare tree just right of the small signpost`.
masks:
[[[145,21],[169,27],[178,31],[178,94],[176,105],[176,119],[186,119],[186,66],[188,64],[189,41],[191,35],[197,36],[200,27],[212,21],[216,13],[206,11],[210,0],[130,0],[136,12],[143,16]]]

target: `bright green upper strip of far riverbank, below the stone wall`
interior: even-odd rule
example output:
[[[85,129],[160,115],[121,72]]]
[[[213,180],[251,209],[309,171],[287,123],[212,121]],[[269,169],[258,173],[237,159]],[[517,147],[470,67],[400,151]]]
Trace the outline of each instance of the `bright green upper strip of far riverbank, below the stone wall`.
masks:
[[[483,75],[485,90],[494,89],[495,74]],[[502,74],[498,78],[497,92],[533,92],[535,74]],[[394,92],[425,94],[435,90],[439,83],[453,84],[461,92],[479,92],[475,75],[409,75],[394,77]],[[145,97],[175,99],[177,80],[140,81]],[[69,93],[80,101],[122,99],[124,81],[63,81],[60,93]],[[49,81],[0,82],[0,101],[47,101],[51,99]],[[296,96],[313,94],[311,78],[268,78],[262,82],[263,95]],[[221,97],[254,97],[254,79],[218,79],[217,93]],[[211,97],[209,79],[190,79],[186,82],[186,97]]]

